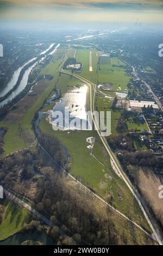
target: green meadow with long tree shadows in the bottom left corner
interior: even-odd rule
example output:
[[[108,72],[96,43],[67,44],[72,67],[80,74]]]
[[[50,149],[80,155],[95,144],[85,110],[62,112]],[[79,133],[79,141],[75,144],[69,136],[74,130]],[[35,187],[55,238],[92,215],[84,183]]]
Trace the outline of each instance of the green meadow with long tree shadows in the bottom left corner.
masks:
[[[1,199],[2,200],[2,199]],[[3,199],[4,215],[0,224],[0,240],[17,233],[25,223],[32,221],[28,212],[8,199]]]

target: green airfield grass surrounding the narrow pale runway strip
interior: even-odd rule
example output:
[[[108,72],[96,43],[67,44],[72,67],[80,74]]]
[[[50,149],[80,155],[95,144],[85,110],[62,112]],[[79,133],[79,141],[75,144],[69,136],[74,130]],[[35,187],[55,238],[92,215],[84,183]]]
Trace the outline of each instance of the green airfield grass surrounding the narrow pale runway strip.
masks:
[[[130,77],[126,76],[125,66],[118,58],[99,58],[99,52],[91,50],[92,52],[92,65],[93,72],[89,71],[89,54],[90,50],[79,49],[77,50],[77,62],[83,63],[83,70],[80,76],[83,76],[93,83],[112,83],[113,90],[116,92],[126,92],[127,83]],[[99,58],[99,69],[98,69]],[[116,65],[116,66],[113,66]]]

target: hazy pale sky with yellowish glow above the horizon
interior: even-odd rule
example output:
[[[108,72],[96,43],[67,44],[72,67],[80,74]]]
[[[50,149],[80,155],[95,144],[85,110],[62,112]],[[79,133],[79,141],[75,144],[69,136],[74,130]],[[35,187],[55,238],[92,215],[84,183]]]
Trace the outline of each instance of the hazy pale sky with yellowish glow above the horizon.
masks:
[[[0,19],[163,23],[163,0],[0,0]]]

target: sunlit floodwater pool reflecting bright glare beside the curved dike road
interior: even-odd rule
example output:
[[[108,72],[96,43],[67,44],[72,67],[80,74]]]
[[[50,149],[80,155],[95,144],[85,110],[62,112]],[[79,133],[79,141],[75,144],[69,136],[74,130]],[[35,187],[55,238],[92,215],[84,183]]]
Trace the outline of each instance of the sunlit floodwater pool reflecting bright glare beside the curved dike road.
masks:
[[[87,130],[89,118],[86,113],[87,86],[74,88],[60,99],[52,111],[48,111],[48,121],[53,130]],[[62,114],[61,114],[62,113]],[[84,128],[85,125],[85,129]]]

